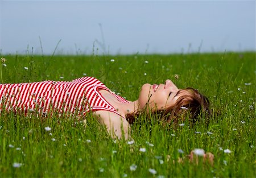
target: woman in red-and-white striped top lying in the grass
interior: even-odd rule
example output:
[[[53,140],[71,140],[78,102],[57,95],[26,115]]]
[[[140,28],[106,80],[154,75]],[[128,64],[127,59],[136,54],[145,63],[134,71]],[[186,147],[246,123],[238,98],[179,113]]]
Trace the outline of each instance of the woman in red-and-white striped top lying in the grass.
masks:
[[[177,122],[185,113],[194,120],[201,111],[209,113],[209,101],[195,89],[177,88],[171,80],[159,85],[144,84],[138,100],[128,101],[97,78],[82,77],[73,81],[1,84],[1,110],[79,118],[92,111],[113,138],[121,138],[122,134],[129,138],[129,123],[142,111],[160,113],[167,122]]]

